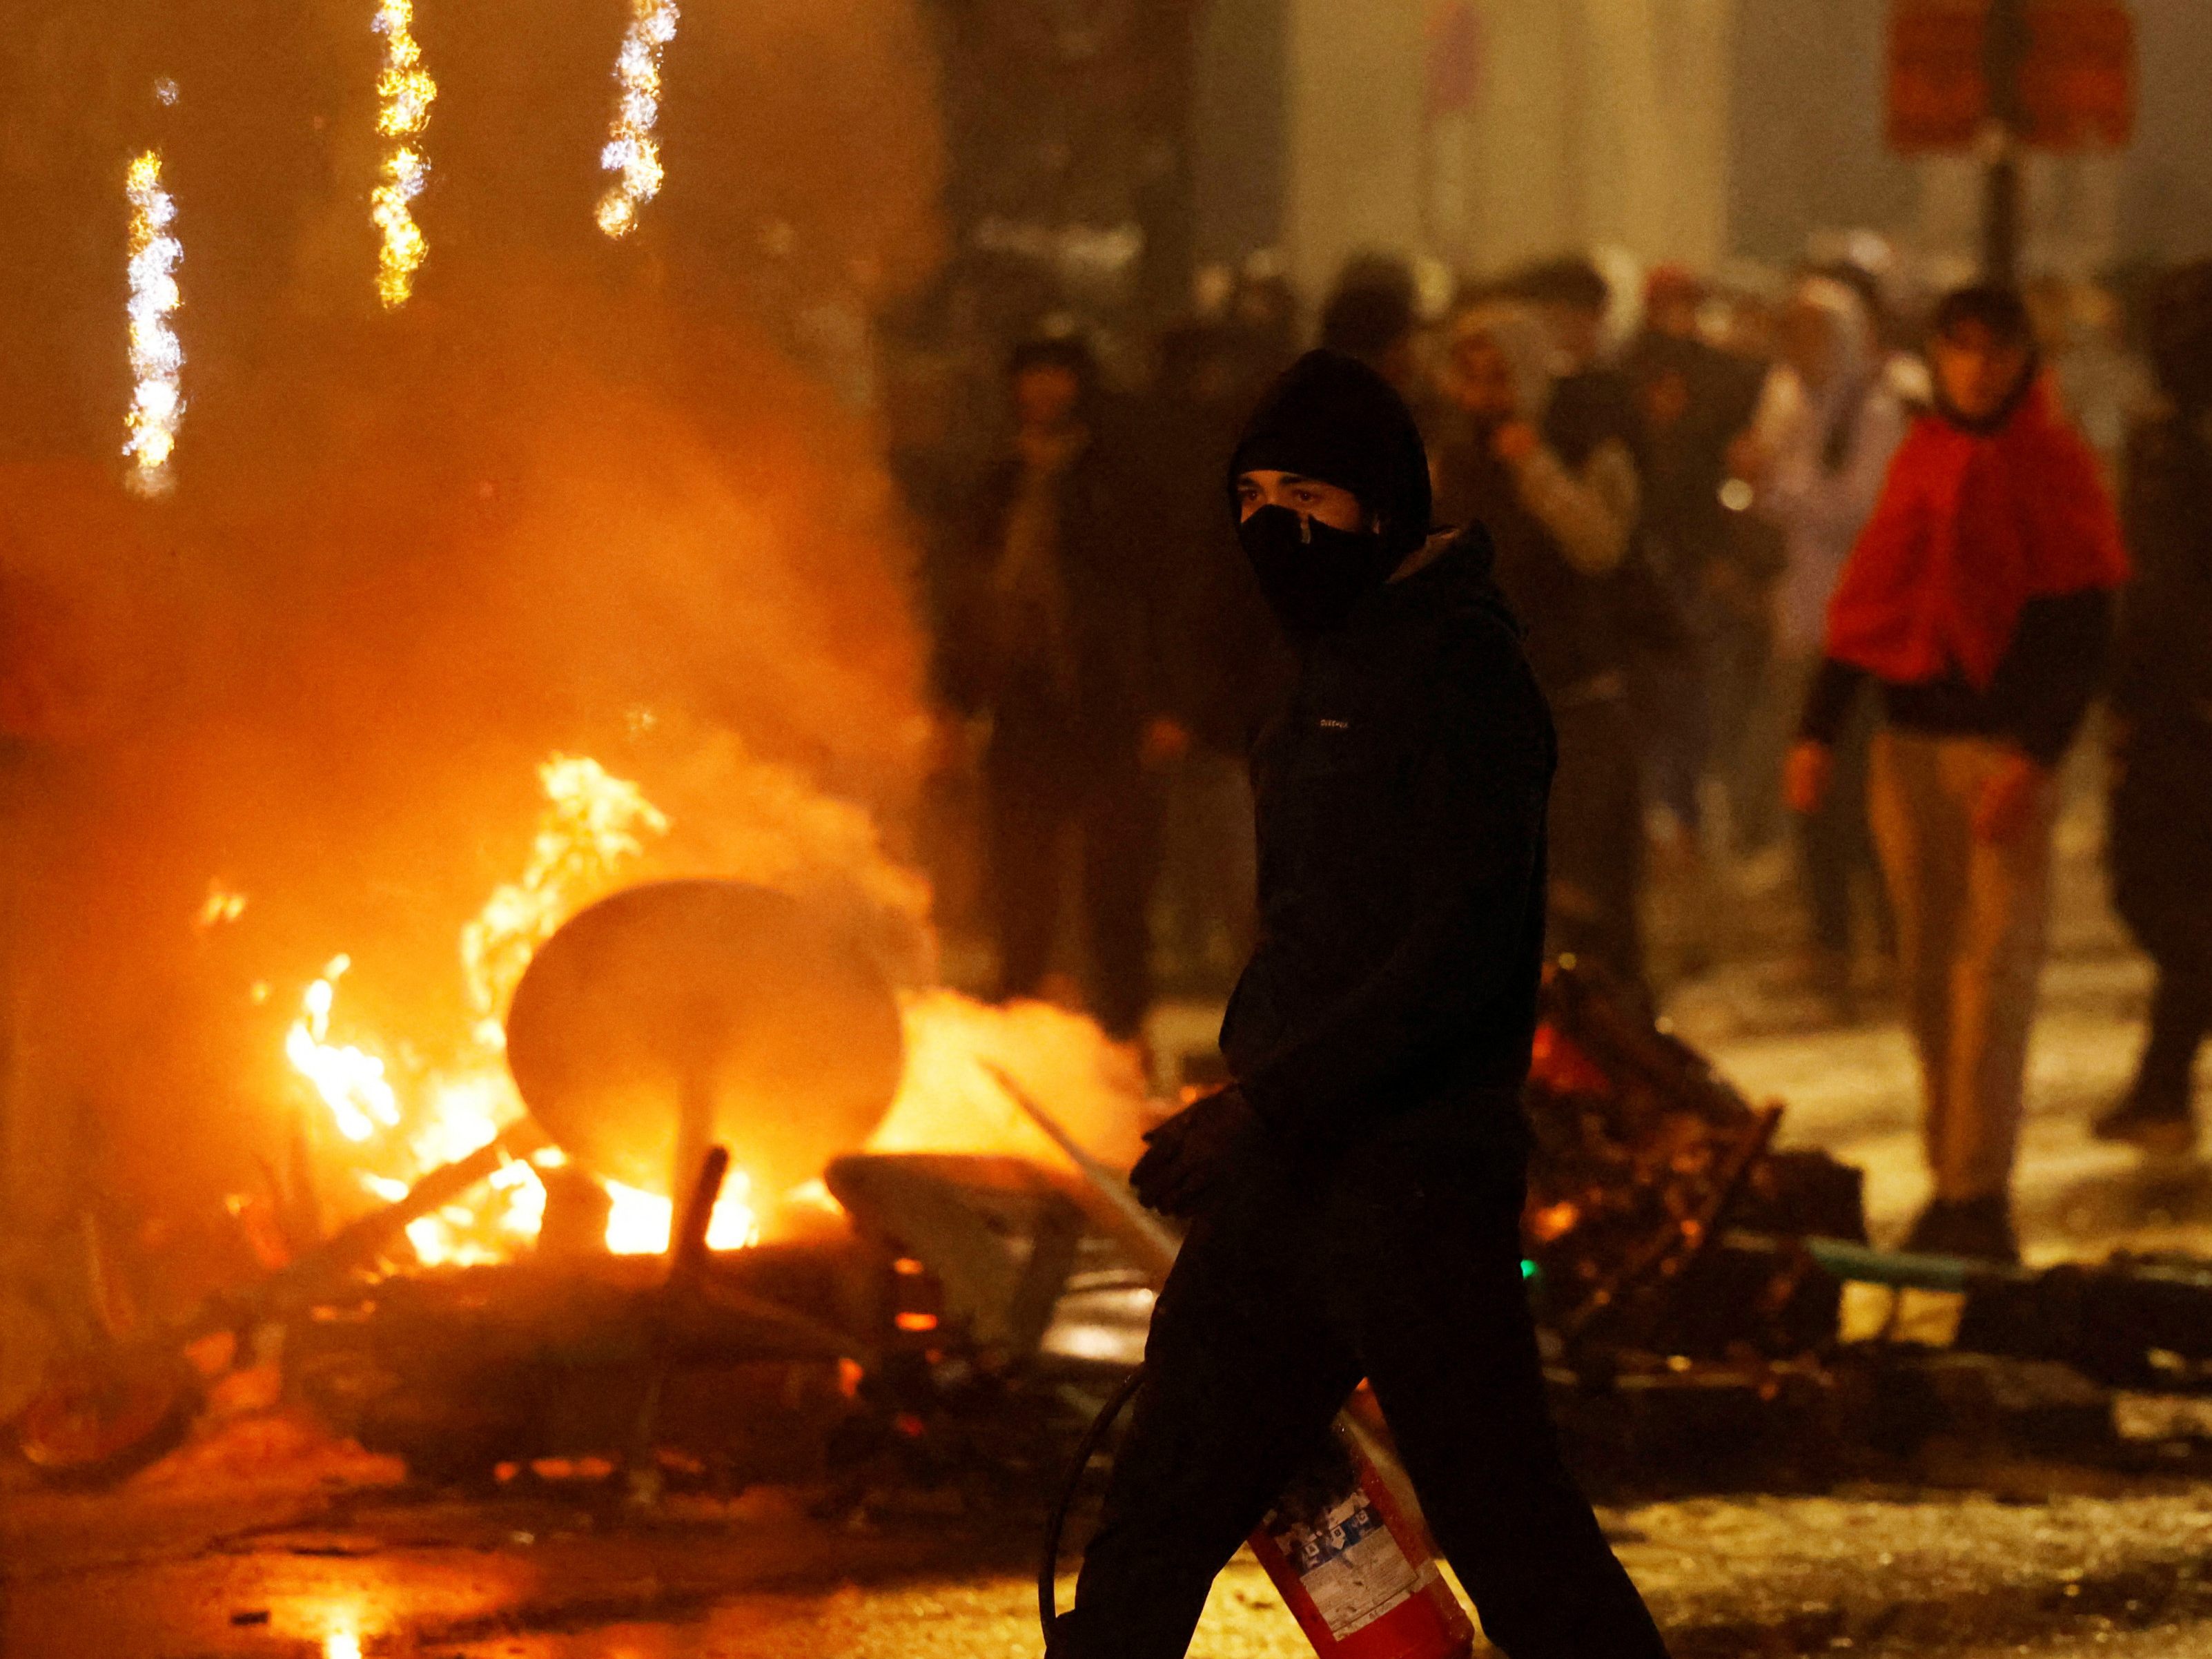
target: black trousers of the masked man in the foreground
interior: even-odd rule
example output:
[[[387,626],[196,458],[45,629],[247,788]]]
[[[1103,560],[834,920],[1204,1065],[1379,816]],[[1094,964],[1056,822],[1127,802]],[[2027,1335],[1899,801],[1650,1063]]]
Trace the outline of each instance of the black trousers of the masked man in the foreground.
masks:
[[[1559,1460],[1520,1272],[1513,1099],[1267,1152],[1190,1230],[1055,1657],[1181,1659],[1221,1566],[1365,1376],[1511,1659],[1663,1659]]]

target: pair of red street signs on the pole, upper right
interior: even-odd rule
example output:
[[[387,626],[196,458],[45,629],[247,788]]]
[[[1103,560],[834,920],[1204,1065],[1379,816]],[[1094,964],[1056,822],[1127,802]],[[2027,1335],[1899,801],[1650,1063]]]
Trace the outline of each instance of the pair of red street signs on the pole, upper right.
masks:
[[[2020,0],[2020,139],[2121,148],[2135,133],[2135,18],[2124,0]],[[1964,150],[1991,117],[1991,0],[1891,0],[1889,148]]]

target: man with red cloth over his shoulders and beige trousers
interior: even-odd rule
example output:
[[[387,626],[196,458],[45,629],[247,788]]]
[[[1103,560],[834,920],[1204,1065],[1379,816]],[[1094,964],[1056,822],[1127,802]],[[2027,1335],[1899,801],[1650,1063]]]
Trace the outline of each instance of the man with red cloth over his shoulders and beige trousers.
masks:
[[[1936,310],[1913,422],[1827,615],[1787,792],[1834,783],[1871,679],[1871,810],[1920,1055],[1933,1197],[1907,1250],[2015,1261],[2011,1172],[2044,962],[2057,765],[2097,692],[2128,560],[2002,288]]]

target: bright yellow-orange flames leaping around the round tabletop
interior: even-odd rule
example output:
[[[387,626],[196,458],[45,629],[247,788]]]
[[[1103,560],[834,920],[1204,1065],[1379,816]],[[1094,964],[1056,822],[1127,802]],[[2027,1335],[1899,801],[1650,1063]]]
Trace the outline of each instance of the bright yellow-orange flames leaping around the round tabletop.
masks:
[[[611,891],[644,856],[668,818],[637,783],[611,776],[597,761],[551,757],[538,772],[546,796],[524,872],[502,883],[460,931],[460,958],[471,1024],[469,1060],[420,1082],[394,1079],[385,1055],[332,1037],[336,958],[307,987],[285,1053],[336,1124],[338,1135],[374,1159],[363,1186],[383,1199],[409,1181],[465,1157],[522,1117],[522,1102],[502,1064],[502,1018],[538,947],[577,909]],[[889,860],[867,814],[810,790],[785,768],[741,768],[732,818],[741,834],[732,863],[754,880],[810,889],[838,869],[885,916],[927,911],[927,885]],[[925,922],[922,922],[925,925]],[[1108,1164],[1128,1164],[1144,1128],[1144,1071],[1135,1053],[1106,1040],[1082,1015],[1042,1002],[1004,1009],[949,989],[911,991],[902,1000],[907,1066],[898,1097],[869,1137],[878,1152],[967,1150],[1009,1152],[1055,1166],[1060,1150],[1029,1121],[1000,1075],[1048,1102],[1055,1117]],[[540,1168],[557,1150],[509,1161],[469,1199],[409,1225],[425,1263],[491,1261],[526,1248],[544,1219]],[[672,1203],[655,1192],[606,1183],[613,1208],[606,1248],[657,1254],[668,1248]],[[761,1217],[752,1181],[732,1170],[708,1225],[708,1245],[757,1243]],[[787,1201],[790,1194],[768,1194]]]

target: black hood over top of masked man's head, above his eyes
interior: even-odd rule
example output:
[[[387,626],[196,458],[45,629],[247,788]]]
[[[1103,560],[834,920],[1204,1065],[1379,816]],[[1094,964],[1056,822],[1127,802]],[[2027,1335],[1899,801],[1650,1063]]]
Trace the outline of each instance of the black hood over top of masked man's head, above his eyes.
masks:
[[[1252,411],[1230,458],[1230,513],[1248,471],[1285,471],[1349,489],[1383,520],[1385,540],[1411,553],[1429,535],[1429,451],[1405,398],[1343,352],[1307,352]]]

